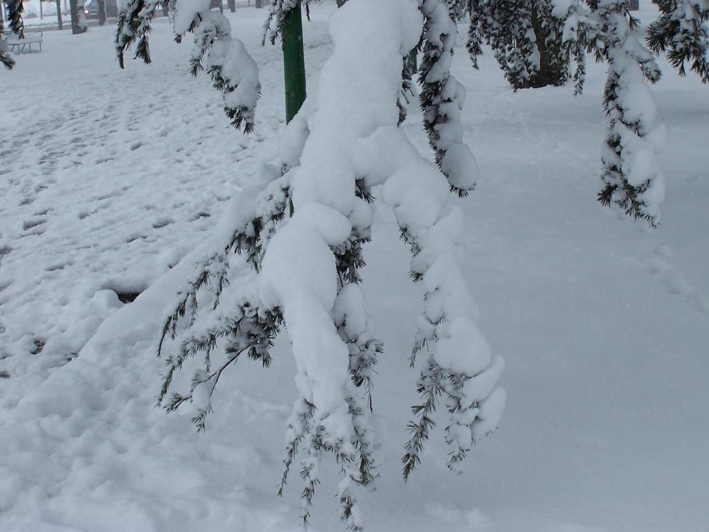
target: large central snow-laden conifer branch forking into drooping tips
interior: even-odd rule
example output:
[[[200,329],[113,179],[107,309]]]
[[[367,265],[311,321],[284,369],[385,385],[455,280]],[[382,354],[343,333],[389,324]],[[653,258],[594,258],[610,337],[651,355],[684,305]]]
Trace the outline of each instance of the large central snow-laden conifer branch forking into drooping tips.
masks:
[[[458,142],[462,95],[448,72],[452,48],[443,43],[453,30],[444,16],[450,21],[447,0],[351,0],[337,11],[333,55],[320,73],[318,95],[309,96],[286,126],[279,165],[264,166],[228,207],[230,234],[216,238],[162,329],[159,353],[167,371],[160,401],[168,411],[191,409],[203,428],[223,371],[242,355],[269,365],[273,340],[285,326],[298,397],[286,426],[279,492],[299,460],[303,523],[325,455],[340,465],[337,500],[352,530],[362,528],[357,490],[372,489],[379,475],[369,411],[376,405],[370,384],[383,346],[360,286],[376,191],[393,209],[411,246],[411,276],[425,289],[413,351],[425,351],[418,379],[423,402],[414,407],[405,477],[420,461],[439,401],[449,412],[445,440],[456,470],[473,443],[496,428],[505,403],[496,387],[503,361],[479,331],[464,280],[462,211],[450,193],[450,179],[458,177],[446,179],[398,127],[402,62],[422,28],[426,50],[425,31],[435,21],[445,31],[428,38],[444,53],[429,53],[423,79],[438,87],[439,94],[429,89],[437,112],[453,118],[440,123],[455,125],[450,133],[441,130],[450,142],[442,160],[451,157],[441,166],[458,170],[468,160],[450,148]],[[176,377],[188,367],[191,384],[180,384]]]

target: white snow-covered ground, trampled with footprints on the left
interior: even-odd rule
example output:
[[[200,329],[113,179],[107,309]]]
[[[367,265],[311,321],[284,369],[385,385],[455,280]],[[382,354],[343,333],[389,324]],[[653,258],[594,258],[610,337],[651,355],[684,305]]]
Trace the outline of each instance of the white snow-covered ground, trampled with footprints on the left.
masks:
[[[309,92],[334,9],[304,23]],[[104,27],[45,33],[43,52],[0,73],[0,531],[298,530],[297,475],[276,495],[296,397],[285,336],[271,368],[242,360],[226,375],[206,433],[154,407],[167,306],[225,201],[277,155],[283,72],[280,47],[260,48],[265,14],[228,14],[261,75],[248,136],[189,77],[191,47],[164,18],[152,65],[121,71]],[[668,192],[652,231],[596,202],[603,65],[589,62],[583,96],[513,93],[489,53],[475,71],[460,48],[482,174],[460,202],[467,280],[508,404],[463,475],[446,469],[439,427],[403,483],[422,291],[381,207],[364,289],[386,344],[384,463],[362,497],[367,530],[709,531],[709,87],[661,65]],[[428,154],[420,114],[405,127]],[[342,529],[327,464],[314,531]]]

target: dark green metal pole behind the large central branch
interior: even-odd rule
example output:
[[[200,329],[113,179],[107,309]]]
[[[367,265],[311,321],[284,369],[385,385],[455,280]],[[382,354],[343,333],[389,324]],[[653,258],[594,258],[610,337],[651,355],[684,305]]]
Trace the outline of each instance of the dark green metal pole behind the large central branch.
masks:
[[[300,6],[286,13],[283,26],[283,70],[286,82],[286,123],[288,123],[296,116],[306,99],[303,18]]]

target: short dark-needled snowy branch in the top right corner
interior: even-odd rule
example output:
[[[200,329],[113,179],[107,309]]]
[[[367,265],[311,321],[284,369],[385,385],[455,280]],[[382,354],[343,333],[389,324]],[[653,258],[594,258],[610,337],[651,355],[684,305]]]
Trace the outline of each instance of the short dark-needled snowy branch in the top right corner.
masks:
[[[702,83],[709,83],[709,0],[652,0],[660,10],[647,28],[647,43],[667,58],[680,75],[685,62]]]

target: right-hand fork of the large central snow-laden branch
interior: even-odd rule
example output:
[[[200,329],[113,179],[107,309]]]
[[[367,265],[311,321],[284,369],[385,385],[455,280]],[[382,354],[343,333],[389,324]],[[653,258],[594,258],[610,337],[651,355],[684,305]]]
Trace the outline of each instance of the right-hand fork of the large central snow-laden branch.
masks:
[[[386,147],[382,150],[381,147]],[[462,211],[440,174],[416,152],[397,128],[382,128],[357,145],[359,173],[383,182],[384,201],[393,207],[403,238],[411,245],[411,275],[425,287],[423,312],[411,357],[428,348],[418,379],[423,403],[413,407],[411,439],[403,456],[408,478],[420,462],[432,414],[443,400],[450,413],[445,438],[449,466],[459,470],[471,445],[496,426],[505,392],[495,386],[503,361],[493,358],[477,326],[478,311],[462,274]]]

